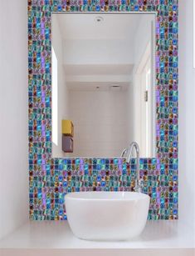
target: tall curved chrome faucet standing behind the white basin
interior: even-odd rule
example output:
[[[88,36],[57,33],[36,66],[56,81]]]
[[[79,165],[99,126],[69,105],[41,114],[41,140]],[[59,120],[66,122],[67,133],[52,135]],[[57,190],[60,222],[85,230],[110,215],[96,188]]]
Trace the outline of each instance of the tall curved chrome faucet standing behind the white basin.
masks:
[[[130,144],[130,146],[128,148],[128,152],[127,152],[128,154],[127,154],[126,161],[127,161],[127,163],[131,162],[132,153],[133,153],[134,149],[135,149],[135,152],[136,152],[136,179],[135,179],[134,191],[141,193],[141,189],[143,187],[143,180],[139,178],[140,173],[139,173],[139,144],[138,143],[133,142],[133,143]]]

